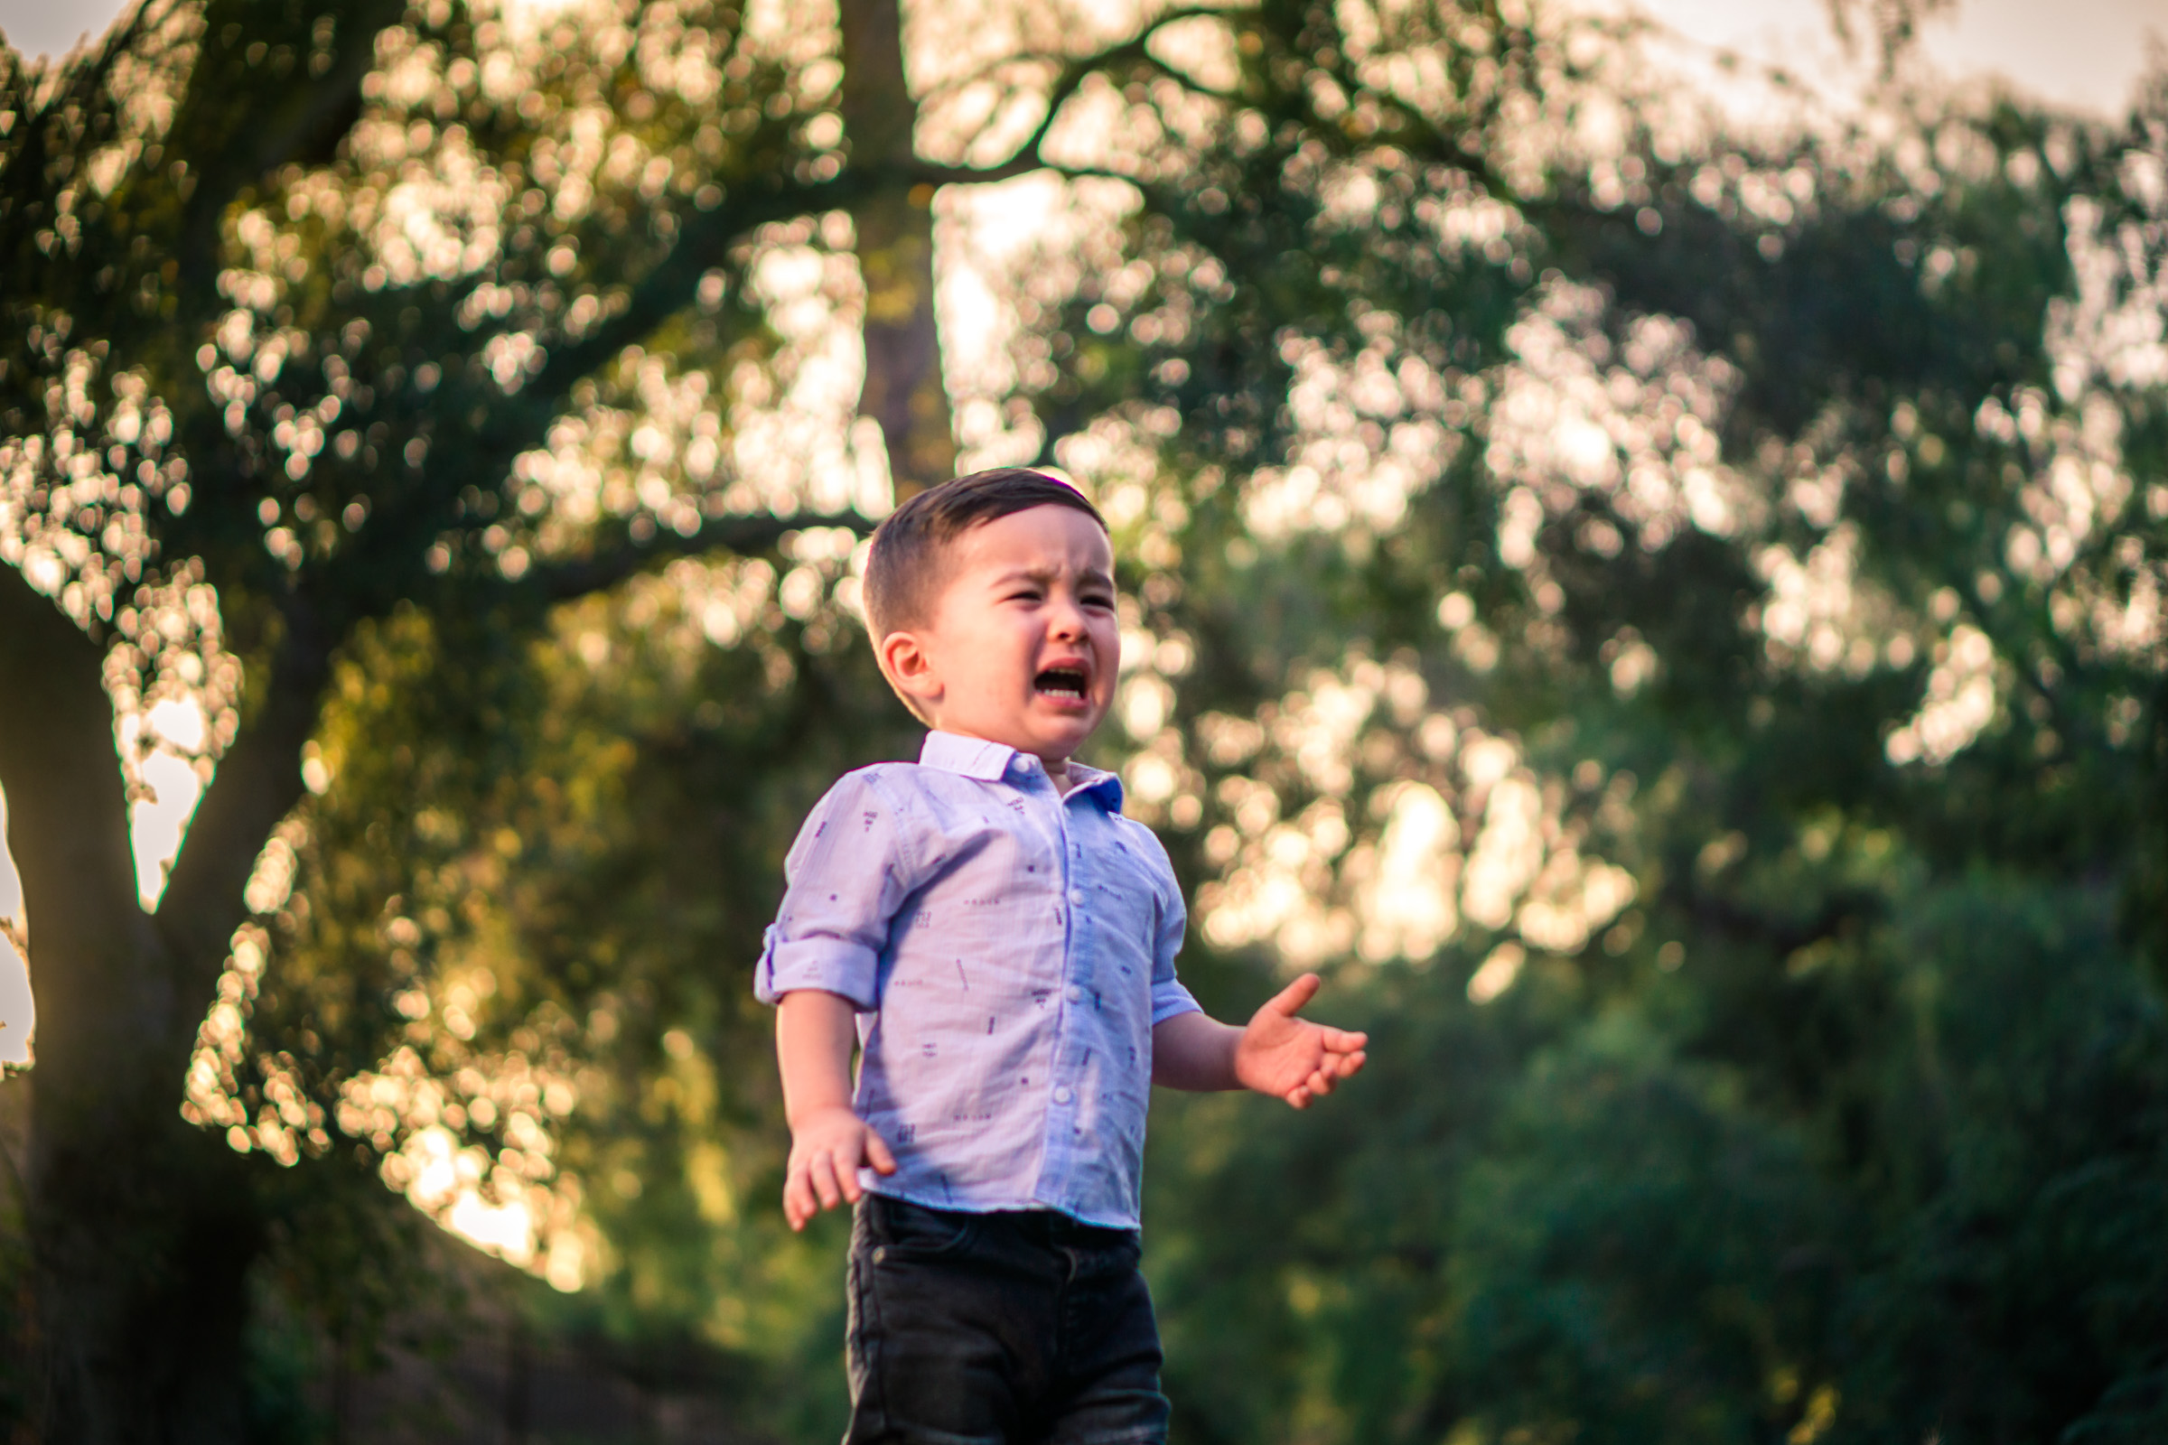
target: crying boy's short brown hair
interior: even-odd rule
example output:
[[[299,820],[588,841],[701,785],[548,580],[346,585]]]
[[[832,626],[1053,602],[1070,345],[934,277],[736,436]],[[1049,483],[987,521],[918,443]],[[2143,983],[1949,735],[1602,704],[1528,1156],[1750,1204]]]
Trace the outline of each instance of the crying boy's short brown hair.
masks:
[[[945,555],[956,537],[1032,507],[1069,507],[1106,531],[1106,518],[1084,500],[1082,492],[1023,466],[997,466],[991,472],[943,481],[891,511],[874,529],[874,548],[865,561],[865,622],[874,648],[878,650],[889,633],[926,624],[941,594]]]

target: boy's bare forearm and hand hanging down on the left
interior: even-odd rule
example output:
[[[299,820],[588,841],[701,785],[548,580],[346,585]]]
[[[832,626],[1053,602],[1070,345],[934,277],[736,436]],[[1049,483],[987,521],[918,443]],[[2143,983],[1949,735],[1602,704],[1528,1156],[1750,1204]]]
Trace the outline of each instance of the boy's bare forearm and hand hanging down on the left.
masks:
[[[895,1172],[895,1155],[850,1107],[850,1049],[856,1005],[817,988],[793,988],[776,1003],[776,1064],[791,1161],[783,1218],[804,1228],[822,1209],[859,1202],[859,1170]]]

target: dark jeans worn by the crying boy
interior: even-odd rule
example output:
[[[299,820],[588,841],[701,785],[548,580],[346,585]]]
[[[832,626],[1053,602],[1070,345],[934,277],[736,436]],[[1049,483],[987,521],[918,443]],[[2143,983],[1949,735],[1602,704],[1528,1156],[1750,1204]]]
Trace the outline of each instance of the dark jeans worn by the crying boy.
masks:
[[[1136,1231],[865,1196],[843,1445],[1160,1445],[1160,1328],[1136,1261]]]

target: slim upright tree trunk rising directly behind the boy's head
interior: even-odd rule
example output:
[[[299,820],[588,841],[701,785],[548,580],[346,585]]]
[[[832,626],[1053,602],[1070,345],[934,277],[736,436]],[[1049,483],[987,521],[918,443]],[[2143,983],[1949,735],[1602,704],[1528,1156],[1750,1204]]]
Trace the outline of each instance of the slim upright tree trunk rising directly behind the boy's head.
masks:
[[[898,0],[841,0],[841,22],[850,165],[876,182],[852,212],[865,277],[859,414],[880,422],[895,500],[904,500],[956,470],[934,325],[934,188],[911,178],[919,104],[904,82]]]

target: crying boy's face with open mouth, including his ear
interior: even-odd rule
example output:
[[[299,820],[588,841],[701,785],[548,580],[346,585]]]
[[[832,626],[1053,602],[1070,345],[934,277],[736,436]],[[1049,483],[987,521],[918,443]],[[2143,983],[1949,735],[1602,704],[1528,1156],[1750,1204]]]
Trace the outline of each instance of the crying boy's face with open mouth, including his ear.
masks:
[[[1114,550],[1073,507],[1030,507],[956,537],[924,626],[882,663],[943,732],[1006,743],[1060,771],[1114,702]]]

